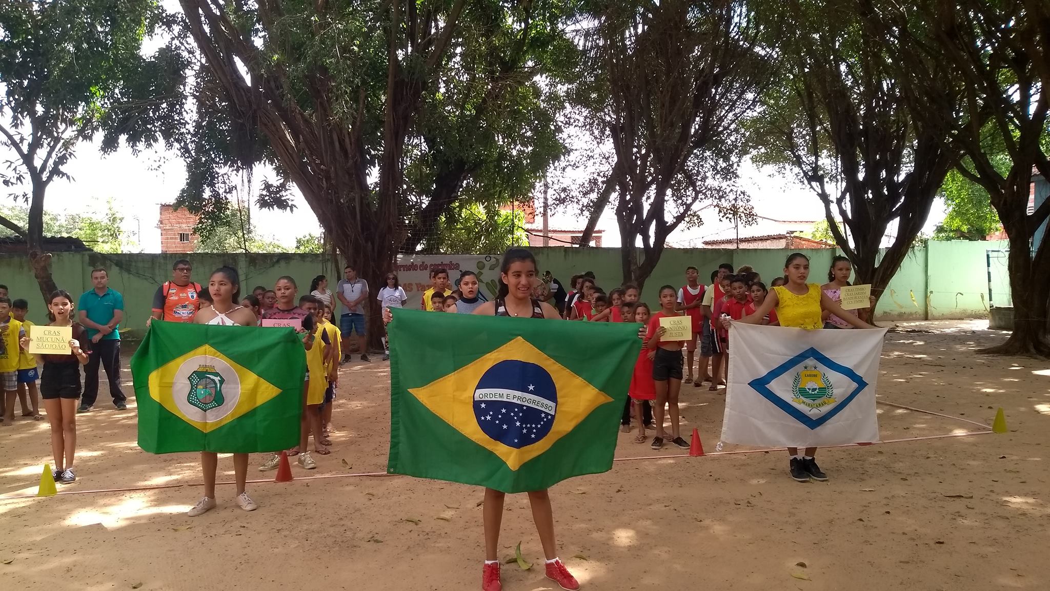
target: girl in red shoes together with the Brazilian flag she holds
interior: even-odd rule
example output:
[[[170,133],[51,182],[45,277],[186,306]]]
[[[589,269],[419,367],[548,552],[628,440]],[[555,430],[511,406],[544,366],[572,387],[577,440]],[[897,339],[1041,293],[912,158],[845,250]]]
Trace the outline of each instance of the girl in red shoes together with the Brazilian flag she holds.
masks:
[[[519,328],[494,322],[494,316],[561,319],[558,310],[531,297],[538,277],[536,258],[528,250],[511,248],[504,253],[500,279],[496,299],[468,317],[398,310],[399,320],[393,321],[395,313],[383,310],[383,321],[394,336],[387,471],[485,486],[483,591],[502,589],[497,549],[506,493],[527,492],[546,557],[546,576],[563,589],[575,590],[580,584],[558,558],[547,487],[611,467],[630,361],[640,341],[631,338],[635,329],[630,324],[524,322]],[[484,316],[489,318],[480,318]],[[481,354],[475,361],[456,366],[445,351],[427,351],[425,343],[442,342],[430,338],[432,333],[447,335],[452,324],[461,334],[474,335],[457,353],[464,359]],[[586,356],[573,355],[564,344],[579,342],[562,335],[571,329],[593,333],[611,343],[613,357],[623,355],[630,361],[603,363],[595,373]],[[544,343],[543,350],[533,343]],[[470,344],[474,350],[468,350]]]

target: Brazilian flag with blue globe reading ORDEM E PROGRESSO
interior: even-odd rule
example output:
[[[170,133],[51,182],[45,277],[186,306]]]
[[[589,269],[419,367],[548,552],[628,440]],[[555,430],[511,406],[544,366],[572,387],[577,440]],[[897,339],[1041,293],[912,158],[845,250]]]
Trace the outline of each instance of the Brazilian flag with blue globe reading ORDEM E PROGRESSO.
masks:
[[[612,467],[637,324],[393,314],[390,473],[523,492]]]

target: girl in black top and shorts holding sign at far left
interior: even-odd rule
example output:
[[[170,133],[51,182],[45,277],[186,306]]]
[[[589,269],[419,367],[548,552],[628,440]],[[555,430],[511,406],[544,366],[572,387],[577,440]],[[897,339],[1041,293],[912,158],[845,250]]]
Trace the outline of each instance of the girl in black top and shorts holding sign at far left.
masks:
[[[72,296],[59,290],[47,298],[50,313],[48,326],[70,326],[69,353],[40,354],[44,371],[40,376],[40,397],[47,409],[47,422],[51,426],[51,456],[55,467],[51,478],[55,482],[68,484],[77,480],[72,471],[74,455],[77,451],[77,400],[80,398],[80,366],[87,363],[91,353],[91,339],[87,331],[70,319]],[[22,349],[28,350],[33,339],[22,337]]]

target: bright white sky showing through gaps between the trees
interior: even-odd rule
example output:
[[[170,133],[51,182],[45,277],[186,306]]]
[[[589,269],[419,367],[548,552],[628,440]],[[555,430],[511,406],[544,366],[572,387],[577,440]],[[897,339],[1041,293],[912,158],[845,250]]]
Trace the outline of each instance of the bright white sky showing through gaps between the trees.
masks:
[[[8,155],[4,151],[0,149],[0,157]],[[14,156],[14,153],[9,155]],[[94,144],[84,143],[78,146],[76,157],[66,170],[72,180],[56,180],[51,184],[44,202],[47,211],[59,214],[97,213],[107,198],[112,198],[117,210],[124,216],[125,235],[139,245],[135,250],[160,252],[160,206],[175,199],[186,176],[185,166],[176,154],[155,150],[134,154],[127,148],[121,148],[116,153],[103,155]],[[260,181],[260,175],[272,177],[273,172],[256,174],[256,181]],[[741,189],[751,195],[752,205],[760,216],[783,220],[823,218],[823,207],[817,196],[791,176],[744,163],[740,177]],[[252,221],[261,237],[291,248],[296,237],[320,233],[317,217],[302,197],[296,193],[293,203],[297,207],[292,212],[252,210]],[[704,239],[733,235],[733,224],[719,220],[713,209],[707,210],[702,217],[701,226],[679,229],[668,242],[679,248],[697,248]],[[927,234],[943,218],[944,206],[939,199],[927,220]],[[575,229],[582,228],[584,220],[575,212],[555,211],[549,224],[551,228]],[[769,233],[771,227],[769,223],[753,229],[741,227],[740,236]],[[620,246],[612,208],[607,208],[598,228],[605,231],[603,246]]]

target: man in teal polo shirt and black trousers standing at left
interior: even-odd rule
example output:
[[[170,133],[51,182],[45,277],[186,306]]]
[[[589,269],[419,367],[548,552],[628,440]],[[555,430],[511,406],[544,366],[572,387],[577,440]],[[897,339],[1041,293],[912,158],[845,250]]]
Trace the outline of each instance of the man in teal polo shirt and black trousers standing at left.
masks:
[[[94,343],[84,365],[84,394],[80,397],[78,413],[87,413],[99,397],[99,362],[102,362],[109,380],[109,396],[118,410],[127,408],[127,398],[121,392],[121,333],[120,323],[124,319],[124,296],[108,287],[109,276],[105,269],[91,270],[94,289],[80,296],[80,323],[87,330],[87,336]]]

